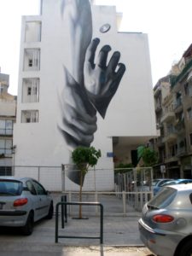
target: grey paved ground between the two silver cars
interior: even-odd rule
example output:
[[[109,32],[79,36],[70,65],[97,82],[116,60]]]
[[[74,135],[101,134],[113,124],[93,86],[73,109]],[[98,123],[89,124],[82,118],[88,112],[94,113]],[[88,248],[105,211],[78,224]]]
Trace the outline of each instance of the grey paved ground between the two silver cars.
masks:
[[[108,204],[114,203],[108,200]],[[103,200],[104,201],[104,200]],[[55,197],[55,203],[57,199]],[[117,201],[118,202],[118,201]],[[104,206],[105,207],[105,206]],[[108,206],[109,207],[109,206]],[[112,206],[111,206],[112,207]],[[87,212],[86,210],[85,212]],[[75,209],[73,209],[75,213]],[[91,216],[92,215],[92,216]],[[86,219],[69,216],[65,228],[59,236],[99,236],[100,218],[90,214]],[[35,224],[32,236],[22,236],[20,230],[1,228],[0,255],[6,256],[144,256],[151,255],[143,247],[137,229],[139,213],[132,211],[130,217],[104,216],[103,245],[99,239],[59,238],[55,243],[55,216],[51,220],[42,220]],[[61,217],[61,215],[60,215]]]

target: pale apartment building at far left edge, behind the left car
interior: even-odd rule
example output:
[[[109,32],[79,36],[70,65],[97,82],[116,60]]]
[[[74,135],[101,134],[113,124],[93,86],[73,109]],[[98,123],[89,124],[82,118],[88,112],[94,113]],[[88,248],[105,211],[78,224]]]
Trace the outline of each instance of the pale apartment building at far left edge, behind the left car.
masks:
[[[16,98],[8,93],[9,75],[0,70],[0,175],[12,175],[13,126],[16,119]]]

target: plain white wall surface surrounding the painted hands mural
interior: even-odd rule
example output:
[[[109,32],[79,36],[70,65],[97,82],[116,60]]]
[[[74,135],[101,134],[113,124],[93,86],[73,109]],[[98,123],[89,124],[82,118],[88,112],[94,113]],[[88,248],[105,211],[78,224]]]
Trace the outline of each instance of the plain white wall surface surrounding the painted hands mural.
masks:
[[[67,142],[67,132],[60,132],[58,126],[60,130],[65,131],[66,129],[72,134],[75,133],[74,136],[81,134],[80,131],[71,129],[74,123],[73,125],[63,123],[65,114],[67,115],[73,111],[71,105],[75,107],[75,112],[78,113],[79,109],[84,111],[82,109],[85,104],[85,100],[80,97],[80,93],[76,94],[77,91],[75,90],[79,91],[77,85],[74,91],[72,87],[66,87],[66,70],[69,82],[79,81],[79,77],[76,77],[73,70],[78,65],[82,70],[81,64],[84,65],[84,60],[82,61],[81,55],[80,57],[74,55],[77,49],[75,46],[73,47],[73,42],[77,42],[78,39],[76,38],[72,42],[72,38],[75,38],[74,35],[78,35],[77,37],[80,38],[83,35],[81,40],[84,40],[91,24],[85,22],[85,25],[78,28],[78,32],[75,34],[72,24],[71,26],[67,24],[67,17],[63,11],[64,3],[60,0],[43,1],[41,16],[26,16],[22,20],[18,108],[14,134],[14,143],[17,147],[15,166],[61,166],[61,164],[70,164],[74,143]],[[113,52],[118,50],[120,53],[119,62],[125,65],[125,73],[108,105],[104,118],[99,113],[96,105],[91,110],[92,113],[97,110],[96,121],[94,120],[94,114],[92,116],[90,114],[90,118],[86,121],[84,112],[80,113],[82,119],[84,119],[84,124],[86,122],[87,124],[83,124],[82,129],[85,136],[84,139],[79,136],[79,144],[87,143],[88,133],[91,133],[91,129],[96,129],[96,132],[91,133],[94,139],[91,143],[88,140],[88,144],[90,143],[90,145],[100,148],[102,151],[102,158],[98,161],[96,168],[104,170],[104,174],[97,177],[97,189],[112,190],[113,172],[108,170],[113,170],[113,158],[107,156],[108,153],[113,152],[112,137],[153,137],[156,135],[148,36],[143,33],[117,32],[114,7],[92,6],[91,15],[93,28],[91,38],[100,38],[95,61],[98,61],[97,55],[102,46],[109,44],[112,50],[108,53],[108,61]],[[41,37],[37,37],[38,42],[29,42],[31,37],[27,31],[27,42],[25,42],[26,22],[35,20],[38,24],[41,24]],[[109,24],[110,29],[108,32],[102,33],[100,29],[105,24]],[[32,26],[32,35],[34,35],[34,27],[36,26]],[[39,26],[37,27],[39,29]],[[76,47],[79,47],[79,44]],[[31,50],[28,49],[36,50],[33,57],[38,59],[39,63],[37,64],[33,60],[34,66],[26,68],[25,65],[29,64],[29,59],[32,58]],[[117,69],[118,67],[115,69],[116,72]],[[72,75],[72,78],[70,75]],[[23,101],[22,99],[23,79],[28,78],[39,79],[39,98],[36,102],[27,102],[27,100]],[[91,81],[85,75],[84,79],[87,79],[88,82]],[[80,86],[82,86],[81,83]],[[103,100],[102,103],[106,101]],[[93,102],[91,102],[90,108],[93,107],[92,105],[94,105]],[[66,108],[61,108],[61,106]],[[101,109],[103,110],[103,108]],[[33,115],[33,118],[31,116],[30,119],[28,113],[32,113],[32,111],[35,118]],[[89,111],[90,109],[88,109]],[[30,123],[23,122],[23,120],[29,121],[29,119]],[[69,117],[69,121],[76,122],[77,120]],[[81,122],[77,125],[77,129],[80,126]],[[20,137],[20,134],[22,134],[22,137]],[[63,136],[63,134],[65,135]],[[20,175],[17,169],[15,169],[15,174]],[[58,186],[60,186],[59,183],[58,180]],[[85,177],[84,189],[90,189],[89,185],[86,184]],[[58,189],[58,186],[55,181],[55,189]],[[78,186],[67,179],[66,189],[78,189]]]

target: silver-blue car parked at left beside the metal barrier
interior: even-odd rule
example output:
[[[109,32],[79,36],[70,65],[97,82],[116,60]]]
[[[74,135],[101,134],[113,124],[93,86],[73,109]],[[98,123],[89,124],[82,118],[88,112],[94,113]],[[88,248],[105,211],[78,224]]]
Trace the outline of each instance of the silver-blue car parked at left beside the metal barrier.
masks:
[[[33,223],[53,217],[53,200],[42,184],[28,177],[0,177],[0,226],[32,234]]]

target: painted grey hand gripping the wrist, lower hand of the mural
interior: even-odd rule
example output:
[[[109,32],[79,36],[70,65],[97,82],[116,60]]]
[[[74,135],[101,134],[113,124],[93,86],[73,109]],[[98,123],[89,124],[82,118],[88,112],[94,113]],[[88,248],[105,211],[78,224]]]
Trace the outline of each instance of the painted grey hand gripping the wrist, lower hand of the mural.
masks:
[[[58,128],[71,148],[90,147],[96,126],[96,109],[84,90],[64,67],[65,86],[59,92],[61,118]]]

